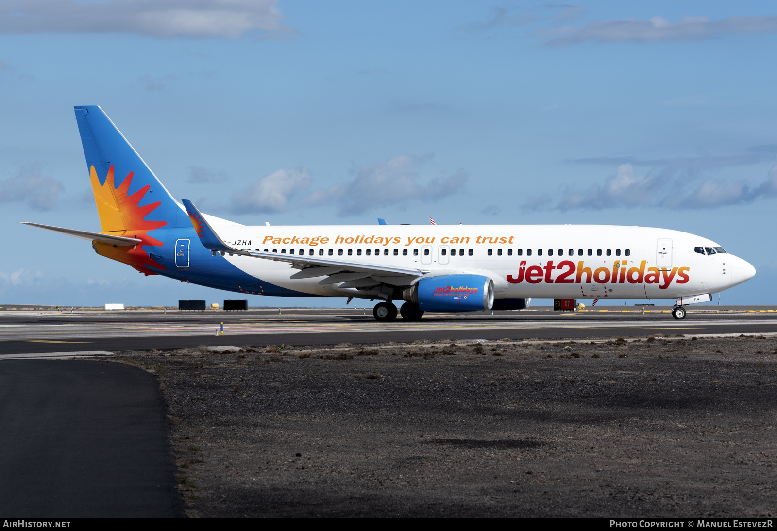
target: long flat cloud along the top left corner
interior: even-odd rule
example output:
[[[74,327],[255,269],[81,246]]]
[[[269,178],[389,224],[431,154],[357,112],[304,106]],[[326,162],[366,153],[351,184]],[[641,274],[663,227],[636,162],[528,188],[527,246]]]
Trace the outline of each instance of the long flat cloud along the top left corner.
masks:
[[[136,33],[156,38],[239,39],[294,33],[277,0],[3,0],[0,33]]]

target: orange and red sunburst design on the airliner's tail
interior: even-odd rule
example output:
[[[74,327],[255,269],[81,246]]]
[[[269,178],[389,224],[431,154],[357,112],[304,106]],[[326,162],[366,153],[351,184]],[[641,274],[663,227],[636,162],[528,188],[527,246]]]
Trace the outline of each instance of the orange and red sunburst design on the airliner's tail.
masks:
[[[154,245],[162,247],[164,244],[147,233],[159,227],[164,227],[166,221],[146,220],[149,213],[162,204],[157,201],[148,203],[145,206],[138,206],[143,196],[148,192],[151,186],[144,186],[132,195],[129,195],[130,184],[132,182],[133,172],[130,172],[118,188],[113,183],[113,165],[108,169],[105,183],[100,184],[95,167],[90,168],[92,179],[92,190],[95,194],[97,203],[97,212],[99,213],[100,224],[103,225],[103,232],[106,234],[116,234],[117,236],[127,236],[129,238],[138,238],[142,243],[130,246],[114,247],[113,245],[94,242],[96,251],[107,258],[124,262],[145,275],[156,275],[148,266],[154,266],[159,269],[165,269],[157,263],[147,252],[143,250],[144,245]]]

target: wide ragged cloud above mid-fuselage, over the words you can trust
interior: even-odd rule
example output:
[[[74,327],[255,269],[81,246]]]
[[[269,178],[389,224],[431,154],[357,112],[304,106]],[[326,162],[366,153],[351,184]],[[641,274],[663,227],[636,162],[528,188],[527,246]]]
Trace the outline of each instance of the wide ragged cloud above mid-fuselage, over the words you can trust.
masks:
[[[436,201],[462,191],[467,172],[459,169],[448,177],[420,182],[418,169],[429,157],[399,155],[388,161],[359,168],[354,179],[328,189],[315,190],[308,204],[335,203],[338,215],[364,213],[380,206],[403,206],[411,201]]]

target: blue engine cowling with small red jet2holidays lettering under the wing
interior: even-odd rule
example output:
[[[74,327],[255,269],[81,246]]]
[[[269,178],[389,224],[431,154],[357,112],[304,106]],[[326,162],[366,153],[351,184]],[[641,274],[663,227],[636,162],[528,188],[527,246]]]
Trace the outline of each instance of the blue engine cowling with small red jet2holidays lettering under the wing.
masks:
[[[420,279],[404,298],[425,311],[483,311],[493,306],[493,280],[481,275],[443,275]]]

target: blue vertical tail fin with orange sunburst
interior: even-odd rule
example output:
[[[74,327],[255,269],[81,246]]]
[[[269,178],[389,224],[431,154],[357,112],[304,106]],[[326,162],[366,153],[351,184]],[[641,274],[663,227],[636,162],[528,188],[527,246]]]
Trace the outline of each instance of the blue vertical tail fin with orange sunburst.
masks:
[[[75,119],[104,232],[190,226],[183,208],[103,109],[76,106]]]

